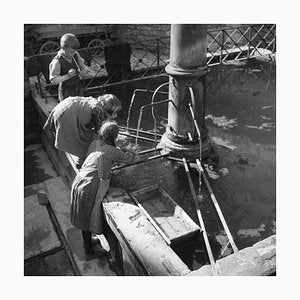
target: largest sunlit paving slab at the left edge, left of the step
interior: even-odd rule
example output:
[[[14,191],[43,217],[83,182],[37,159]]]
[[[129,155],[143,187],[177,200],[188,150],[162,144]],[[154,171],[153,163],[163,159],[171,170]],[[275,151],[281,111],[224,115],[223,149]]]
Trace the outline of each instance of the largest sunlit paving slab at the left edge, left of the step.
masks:
[[[38,187],[37,187],[38,188]],[[38,203],[36,194],[24,199],[24,259],[60,247],[47,208]]]

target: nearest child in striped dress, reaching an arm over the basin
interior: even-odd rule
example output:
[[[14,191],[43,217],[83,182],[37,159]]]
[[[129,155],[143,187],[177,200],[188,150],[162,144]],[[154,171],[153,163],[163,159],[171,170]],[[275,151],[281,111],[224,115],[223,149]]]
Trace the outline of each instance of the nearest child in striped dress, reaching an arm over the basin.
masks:
[[[72,185],[71,223],[82,230],[87,255],[94,252],[92,233],[102,234],[109,230],[103,220],[102,200],[109,188],[112,164],[134,160],[133,152],[123,152],[116,147],[118,133],[116,123],[108,121],[102,125]]]

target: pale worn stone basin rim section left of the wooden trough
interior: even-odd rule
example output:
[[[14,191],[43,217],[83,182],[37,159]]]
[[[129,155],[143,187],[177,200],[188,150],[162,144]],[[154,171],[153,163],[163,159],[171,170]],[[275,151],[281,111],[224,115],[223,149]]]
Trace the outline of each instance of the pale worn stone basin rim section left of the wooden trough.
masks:
[[[110,188],[103,207],[111,222],[117,225],[112,230],[122,235],[137,263],[149,275],[178,276],[190,272],[124,189]]]

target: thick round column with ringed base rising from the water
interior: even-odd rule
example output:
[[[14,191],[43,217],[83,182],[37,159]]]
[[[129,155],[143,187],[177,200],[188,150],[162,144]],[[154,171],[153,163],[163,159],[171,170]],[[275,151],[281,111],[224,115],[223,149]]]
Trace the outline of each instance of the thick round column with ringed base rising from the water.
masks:
[[[205,76],[207,26],[176,24],[171,26],[170,63],[166,67],[170,75],[168,127],[160,146],[172,156],[194,159],[199,157],[197,132],[188,104],[191,103],[201,132],[202,157],[207,156],[211,143],[205,127]],[[190,87],[194,94],[192,101]],[[191,133],[192,140],[187,133]]]

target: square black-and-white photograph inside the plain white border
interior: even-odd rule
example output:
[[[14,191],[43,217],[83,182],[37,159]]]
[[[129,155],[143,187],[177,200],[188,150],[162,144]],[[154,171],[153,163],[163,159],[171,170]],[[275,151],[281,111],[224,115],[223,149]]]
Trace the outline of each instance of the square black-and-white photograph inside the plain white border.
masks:
[[[24,24],[24,274],[276,275],[276,24]]]

